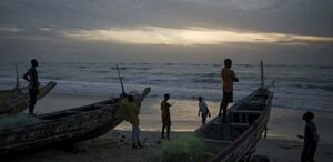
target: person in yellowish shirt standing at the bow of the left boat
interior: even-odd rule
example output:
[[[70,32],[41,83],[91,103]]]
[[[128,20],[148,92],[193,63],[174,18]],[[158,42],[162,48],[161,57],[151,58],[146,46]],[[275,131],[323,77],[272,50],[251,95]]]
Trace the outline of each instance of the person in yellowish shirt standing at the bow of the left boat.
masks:
[[[125,120],[132,124],[132,148],[133,149],[142,148],[140,143],[140,128],[139,128],[140,108],[134,103],[133,95],[128,95],[128,101],[122,101],[121,103],[124,111]]]

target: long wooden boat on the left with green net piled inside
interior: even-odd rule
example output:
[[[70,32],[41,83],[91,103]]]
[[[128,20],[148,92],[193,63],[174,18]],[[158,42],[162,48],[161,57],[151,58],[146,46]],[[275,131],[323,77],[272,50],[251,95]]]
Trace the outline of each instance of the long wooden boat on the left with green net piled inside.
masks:
[[[150,92],[135,94],[140,104]],[[100,136],[124,120],[121,98],[37,115],[38,122],[0,130],[0,156],[48,145],[69,145]]]

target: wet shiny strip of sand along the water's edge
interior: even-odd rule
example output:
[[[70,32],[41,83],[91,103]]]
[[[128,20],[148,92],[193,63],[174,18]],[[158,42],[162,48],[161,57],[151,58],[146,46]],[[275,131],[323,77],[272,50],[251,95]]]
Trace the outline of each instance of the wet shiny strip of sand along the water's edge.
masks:
[[[51,92],[44,99],[37,102],[36,113],[47,113],[59,111],[84,104],[91,104],[102,100],[107,100],[107,95],[83,95],[83,94],[64,94]],[[140,112],[140,126],[144,131],[161,130],[161,99],[147,98],[142,102]],[[173,131],[194,131],[201,125],[201,118],[198,117],[198,102],[195,100],[178,100],[171,99],[174,105],[171,108],[171,118]],[[219,102],[206,101],[212,118],[208,118],[209,122],[218,114]],[[268,135],[276,139],[299,140],[296,134],[303,133],[304,122],[302,115],[306,110],[293,110],[286,108],[273,107],[268,123]],[[317,124],[321,140],[325,143],[333,143],[333,130],[330,123],[333,121],[332,112],[313,111],[315,114],[314,122]],[[118,130],[131,130],[128,122],[118,125]]]

